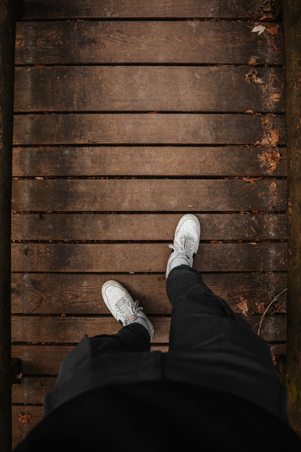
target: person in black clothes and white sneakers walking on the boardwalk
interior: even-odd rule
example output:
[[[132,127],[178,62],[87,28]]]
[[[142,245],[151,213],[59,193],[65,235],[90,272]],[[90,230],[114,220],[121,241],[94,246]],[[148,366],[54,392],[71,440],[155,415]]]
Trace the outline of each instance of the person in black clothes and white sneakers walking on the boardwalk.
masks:
[[[105,282],[103,299],[122,328],[85,335],[67,355],[42,421],[15,452],[300,450],[269,345],[192,268],[199,237],[187,214],[169,245],[169,351],[150,353],[143,308],[119,282]]]

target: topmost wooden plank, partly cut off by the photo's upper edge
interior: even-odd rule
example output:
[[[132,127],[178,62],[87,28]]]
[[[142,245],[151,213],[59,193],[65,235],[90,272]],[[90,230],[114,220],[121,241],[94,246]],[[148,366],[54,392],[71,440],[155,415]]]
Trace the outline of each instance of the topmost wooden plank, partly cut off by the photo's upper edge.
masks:
[[[23,19],[105,19],[105,18],[259,18],[263,15],[264,6],[260,2],[250,4],[250,0],[224,2],[211,0],[74,0],[60,2],[58,0],[23,0]]]

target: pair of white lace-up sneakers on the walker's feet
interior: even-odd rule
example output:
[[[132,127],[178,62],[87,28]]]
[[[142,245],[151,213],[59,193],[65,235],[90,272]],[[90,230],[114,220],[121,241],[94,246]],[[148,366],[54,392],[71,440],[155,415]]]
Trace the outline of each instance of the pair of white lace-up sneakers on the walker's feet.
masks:
[[[169,245],[172,251],[167,261],[166,277],[168,277],[175,259],[181,259],[178,260],[181,263],[187,261],[188,265],[192,267],[194,256],[199,248],[199,236],[200,225],[197,217],[190,214],[184,215],[176,227],[173,245]],[[112,315],[122,326],[135,322],[144,325],[151,340],[153,339],[153,324],[142,312],[143,308],[138,307],[139,301],[134,301],[119,282],[114,280],[105,282],[102,286],[102,297]]]

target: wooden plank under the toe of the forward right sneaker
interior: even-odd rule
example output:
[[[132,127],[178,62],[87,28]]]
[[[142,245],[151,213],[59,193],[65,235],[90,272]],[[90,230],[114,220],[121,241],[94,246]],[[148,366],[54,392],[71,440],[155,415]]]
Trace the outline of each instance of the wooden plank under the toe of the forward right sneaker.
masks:
[[[181,214],[14,214],[12,240],[172,240]],[[285,240],[286,214],[196,214],[201,240]]]

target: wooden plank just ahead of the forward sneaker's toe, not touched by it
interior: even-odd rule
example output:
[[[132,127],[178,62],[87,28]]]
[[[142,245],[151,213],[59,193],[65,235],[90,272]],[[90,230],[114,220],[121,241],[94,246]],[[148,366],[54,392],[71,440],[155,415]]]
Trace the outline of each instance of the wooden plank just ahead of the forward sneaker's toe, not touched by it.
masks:
[[[26,211],[286,211],[285,179],[13,180],[12,209]]]

